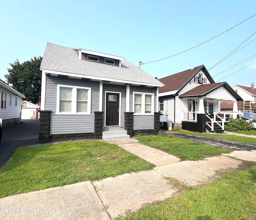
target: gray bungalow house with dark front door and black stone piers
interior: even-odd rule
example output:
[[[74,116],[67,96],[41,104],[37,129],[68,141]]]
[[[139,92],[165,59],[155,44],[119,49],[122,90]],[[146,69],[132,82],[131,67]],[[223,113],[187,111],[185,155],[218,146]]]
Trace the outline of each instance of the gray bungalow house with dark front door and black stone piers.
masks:
[[[47,43],[40,69],[40,142],[160,130],[164,84],[125,58]]]

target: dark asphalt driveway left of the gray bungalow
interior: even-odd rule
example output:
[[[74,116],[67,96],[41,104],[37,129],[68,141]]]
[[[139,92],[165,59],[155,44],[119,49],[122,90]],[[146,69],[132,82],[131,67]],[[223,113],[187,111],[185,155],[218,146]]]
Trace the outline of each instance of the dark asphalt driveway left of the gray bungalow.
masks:
[[[0,145],[0,168],[20,146],[38,144],[38,120],[23,120],[24,123],[3,128]]]

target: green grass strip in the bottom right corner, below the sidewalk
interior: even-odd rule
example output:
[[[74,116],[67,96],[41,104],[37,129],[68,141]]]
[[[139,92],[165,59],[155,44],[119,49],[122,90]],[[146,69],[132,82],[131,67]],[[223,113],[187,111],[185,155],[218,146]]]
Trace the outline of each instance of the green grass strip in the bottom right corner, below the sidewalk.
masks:
[[[122,220],[255,220],[256,167],[129,214]]]

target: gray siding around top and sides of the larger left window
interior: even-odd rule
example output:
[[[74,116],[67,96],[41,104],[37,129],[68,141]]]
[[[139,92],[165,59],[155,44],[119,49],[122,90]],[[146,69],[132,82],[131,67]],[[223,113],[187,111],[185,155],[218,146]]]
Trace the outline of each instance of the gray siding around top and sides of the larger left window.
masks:
[[[92,88],[91,114],[99,110],[100,83],[89,80],[78,80],[66,77],[46,76],[45,108],[56,114],[57,84],[70,86],[85,86]]]

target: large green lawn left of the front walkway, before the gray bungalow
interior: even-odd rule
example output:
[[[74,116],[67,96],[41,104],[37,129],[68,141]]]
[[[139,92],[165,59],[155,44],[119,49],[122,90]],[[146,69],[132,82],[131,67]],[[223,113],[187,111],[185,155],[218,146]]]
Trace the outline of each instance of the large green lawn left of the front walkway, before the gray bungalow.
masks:
[[[21,147],[0,169],[0,197],[150,170],[154,166],[101,141]]]

